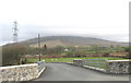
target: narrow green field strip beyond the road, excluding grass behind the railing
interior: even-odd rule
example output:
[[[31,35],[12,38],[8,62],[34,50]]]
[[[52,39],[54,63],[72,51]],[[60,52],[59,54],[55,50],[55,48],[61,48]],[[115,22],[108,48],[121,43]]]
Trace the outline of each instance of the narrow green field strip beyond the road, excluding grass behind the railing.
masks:
[[[43,58],[41,60],[45,60],[46,62],[72,62],[73,59],[107,59],[107,60],[127,60],[123,58],[115,58],[115,57],[83,57],[83,58]],[[28,59],[31,62],[36,62],[38,59]]]

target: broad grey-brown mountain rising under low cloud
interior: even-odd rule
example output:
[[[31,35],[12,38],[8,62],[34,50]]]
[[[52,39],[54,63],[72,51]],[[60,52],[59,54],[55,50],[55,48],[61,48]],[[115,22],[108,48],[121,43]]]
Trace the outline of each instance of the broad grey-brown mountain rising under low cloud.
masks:
[[[38,47],[38,39],[33,38],[24,42],[20,42],[19,44],[28,45],[31,47]],[[46,36],[40,37],[40,45],[47,45],[47,47],[56,47],[56,46],[64,46],[64,47],[87,47],[92,45],[97,46],[128,46],[128,43],[118,43],[118,42],[110,42],[99,38],[92,38],[92,37],[79,37],[79,36]]]

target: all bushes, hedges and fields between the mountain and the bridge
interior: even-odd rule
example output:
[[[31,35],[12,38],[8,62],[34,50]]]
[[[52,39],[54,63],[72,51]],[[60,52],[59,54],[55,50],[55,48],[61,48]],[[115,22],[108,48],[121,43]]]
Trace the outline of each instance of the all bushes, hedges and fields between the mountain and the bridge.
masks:
[[[129,47],[100,47],[97,45],[88,46],[88,47],[62,47],[57,46],[53,48],[48,48],[48,46],[44,46],[41,48],[32,48],[24,45],[13,44],[5,45],[2,47],[3,55],[3,66],[10,64],[20,64],[38,61],[37,59],[28,59],[26,60],[26,55],[36,56],[41,54],[44,56],[50,56],[52,59],[44,58],[46,62],[71,62],[72,59],[85,59],[85,58],[96,58],[96,59],[123,59],[131,58]],[[115,56],[114,54],[122,54],[127,52],[122,56]],[[55,58],[60,56],[61,58]],[[116,58],[117,57],[117,58]],[[121,57],[121,58],[119,58]]]

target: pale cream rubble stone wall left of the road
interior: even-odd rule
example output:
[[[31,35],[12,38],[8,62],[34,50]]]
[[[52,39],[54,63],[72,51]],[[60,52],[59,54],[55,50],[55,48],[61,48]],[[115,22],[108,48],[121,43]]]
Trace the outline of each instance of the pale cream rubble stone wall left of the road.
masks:
[[[38,64],[21,64],[11,67],[0,67],[1,81],[28,81],[38,75]]]

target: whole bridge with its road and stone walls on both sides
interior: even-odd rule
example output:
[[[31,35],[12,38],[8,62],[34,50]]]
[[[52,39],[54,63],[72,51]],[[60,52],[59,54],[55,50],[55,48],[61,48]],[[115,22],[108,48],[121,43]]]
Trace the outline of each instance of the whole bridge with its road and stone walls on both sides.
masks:
[[[106,63],[107,66],[106,72],[102,72],[96,69],[90,69],[88,67],[85,66],[87,61],[90,61],[90,66],[92,63],[93,66],[97,66],[97,67],[98,64],[104,64],[103,60],[97,61],[96,59],[95,59],[96,62],[91,62],[91,60],[78,59],[78,60],[73,60],[73,63],[60,63],[60,62],[45,63],[44,61],[38,61],[37,63],[31,63],[31,64],[2,67],[0,69],[1,72],[0,79],[2,79],[2,81],[29,81],[25,83],[33,83],[39,81],[41,82],[43,81],[119,81],[119,82],[127,81],[128,82],[131,78],[127,73],[126,69],[128,68],[124,68],[126,64],[129,66],[128,64],[129,61],[127,60],[108,61]],[[111,73],[109,70],[114,73]],[[120,74],[120,72],[123,73]]]

